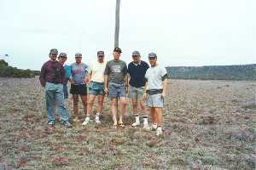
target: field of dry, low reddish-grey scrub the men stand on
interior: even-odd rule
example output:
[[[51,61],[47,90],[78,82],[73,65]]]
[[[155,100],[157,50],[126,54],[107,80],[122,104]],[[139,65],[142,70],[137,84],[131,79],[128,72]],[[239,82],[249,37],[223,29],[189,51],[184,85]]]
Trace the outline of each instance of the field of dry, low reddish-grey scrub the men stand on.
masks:
[[[108,99],[100,126],[81,126],[81,105],[74,123],[69,96],[73,128],[49,128],[38,78],[0,78],[0,169],[255,169],[256,82],[169,84],[157,138],[131,127],[131,105],[113,129]]]

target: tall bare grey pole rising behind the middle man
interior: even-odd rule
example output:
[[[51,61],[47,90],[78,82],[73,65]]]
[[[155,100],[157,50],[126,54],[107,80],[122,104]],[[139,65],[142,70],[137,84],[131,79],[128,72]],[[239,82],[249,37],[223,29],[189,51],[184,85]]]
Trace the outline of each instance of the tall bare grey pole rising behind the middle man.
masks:
[[[119,11],[120,0],[116,0],[115,6],[115,29],[114,29],[114,48],[119,48]]]

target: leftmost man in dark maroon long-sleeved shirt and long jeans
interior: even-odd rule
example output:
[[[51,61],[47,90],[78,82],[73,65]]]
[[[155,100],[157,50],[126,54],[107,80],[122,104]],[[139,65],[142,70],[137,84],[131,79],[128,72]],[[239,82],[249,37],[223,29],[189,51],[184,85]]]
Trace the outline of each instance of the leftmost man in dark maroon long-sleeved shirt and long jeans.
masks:
[[[55,123],[53,110],[56,103],[61,121],[66,127],[72,127],[68,122],[68,113],[64,106],[63,83],[65,82],[65,72],[63,65],[56,60],[57,55],[57,49],[53,48],[49,51],[49,61],[42,66],[39,77],[41,85],[45,89],[48,124],[53,126]]]

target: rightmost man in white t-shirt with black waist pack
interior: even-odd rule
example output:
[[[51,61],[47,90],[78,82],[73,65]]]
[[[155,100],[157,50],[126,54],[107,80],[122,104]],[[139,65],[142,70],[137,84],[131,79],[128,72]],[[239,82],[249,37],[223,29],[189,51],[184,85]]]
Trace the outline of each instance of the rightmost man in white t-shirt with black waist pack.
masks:
[[[153,128],[156,129],[156,135],[162,135],[162,108],[164,107],[164,98],[167,88],[166,68],[156,63],[157,56],[154,53],[148,54],[150,68],[146,72],[146,88],[144,97],[147,98],[147,105],[150,108],[150,119]]]

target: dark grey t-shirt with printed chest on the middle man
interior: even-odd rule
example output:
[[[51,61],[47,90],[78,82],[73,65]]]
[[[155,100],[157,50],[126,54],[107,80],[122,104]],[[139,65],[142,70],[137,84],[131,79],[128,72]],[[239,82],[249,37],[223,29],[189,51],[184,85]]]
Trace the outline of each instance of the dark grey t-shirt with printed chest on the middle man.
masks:
[[[127,65],[123,60],[108,61],[104,75],[108,75],[109,82],[124,82],[124,77],[127,75]]]

